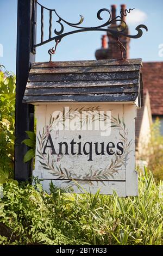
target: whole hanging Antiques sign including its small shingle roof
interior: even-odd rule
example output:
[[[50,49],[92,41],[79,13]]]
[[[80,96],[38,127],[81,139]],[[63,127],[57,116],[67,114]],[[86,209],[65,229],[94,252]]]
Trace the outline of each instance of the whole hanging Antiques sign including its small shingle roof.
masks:
[[[37,118],[34,176],[57,187],[137,196],[141,59],[33,63],[23,102]]]

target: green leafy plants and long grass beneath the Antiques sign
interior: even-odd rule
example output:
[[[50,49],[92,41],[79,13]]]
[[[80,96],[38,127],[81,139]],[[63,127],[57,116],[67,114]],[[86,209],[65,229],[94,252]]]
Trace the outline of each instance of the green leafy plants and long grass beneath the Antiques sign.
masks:
[[[36,179],[35,179],[36,181]],[[163,245],[163,182],[139,177],[139,197],[68,194],[51,184],[4,185],[0,224],[10,227],[17,245]],[[12,237],[0,237],[11,244]]]

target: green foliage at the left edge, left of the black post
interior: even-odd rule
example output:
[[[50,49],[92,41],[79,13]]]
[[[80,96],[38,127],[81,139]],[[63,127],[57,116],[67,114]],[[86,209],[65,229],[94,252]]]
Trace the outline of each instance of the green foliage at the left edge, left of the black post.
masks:
[[[13,176],[15,76],[0,71],[0,178]]]

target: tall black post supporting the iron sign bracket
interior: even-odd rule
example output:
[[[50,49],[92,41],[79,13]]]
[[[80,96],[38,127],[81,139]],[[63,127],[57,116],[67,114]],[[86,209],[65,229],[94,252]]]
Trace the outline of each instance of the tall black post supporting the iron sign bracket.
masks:
[[[30,64],[35,61],[32,46],[34,32],[35,0],[18,0],[17,5],[17,60],[16,60],[16,109],[15,109],[15,179],[26,181],[32,174],[32,162],[24,163],[28,147],[22,143],[25,131],[34,130],[34,106],[22,103]]]

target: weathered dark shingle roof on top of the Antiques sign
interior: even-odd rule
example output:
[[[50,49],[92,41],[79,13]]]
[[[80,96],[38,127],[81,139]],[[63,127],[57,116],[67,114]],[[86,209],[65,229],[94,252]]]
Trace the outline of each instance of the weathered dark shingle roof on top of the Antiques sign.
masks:
[[[135,102],[141,59],[34,63],[23,102]]]

